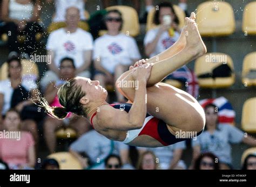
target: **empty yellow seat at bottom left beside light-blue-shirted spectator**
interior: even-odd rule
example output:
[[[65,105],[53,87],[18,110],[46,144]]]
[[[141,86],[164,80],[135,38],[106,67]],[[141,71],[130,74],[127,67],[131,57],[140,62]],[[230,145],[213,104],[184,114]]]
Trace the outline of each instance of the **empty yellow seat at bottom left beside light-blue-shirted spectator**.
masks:
[[[48,159],[55,159],[59,163],[59,169],[83,169],[80,162],[69,152],[53,153]]]

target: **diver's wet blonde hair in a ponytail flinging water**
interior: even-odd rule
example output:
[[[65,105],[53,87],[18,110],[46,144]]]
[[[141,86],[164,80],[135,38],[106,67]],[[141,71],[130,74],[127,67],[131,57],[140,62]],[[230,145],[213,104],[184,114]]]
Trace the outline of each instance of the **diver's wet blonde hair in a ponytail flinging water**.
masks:
[[[85,96],[85,92],[82,90],[82,85],[77,85],[75,78],[71,78],[71,80],[63,84],[57,95],[59,103],[63,107],[52,107],[44,98],[40,101],[46,112],[51,116],[57,119],[64,119],[69,112],[78,116],[87,116],[87,109],[80,103],[80,99]]]

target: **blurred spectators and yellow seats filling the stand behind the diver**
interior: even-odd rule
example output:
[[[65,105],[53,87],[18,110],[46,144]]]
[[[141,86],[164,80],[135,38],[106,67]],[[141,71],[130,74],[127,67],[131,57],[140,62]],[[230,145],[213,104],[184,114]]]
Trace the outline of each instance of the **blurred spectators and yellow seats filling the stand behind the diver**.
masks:
[[[0,0],[0,169],[256,169],[256,2],[202,0]],[[159,148],[127,146],[69,113],[48,116],[38,91],[75,76],[114,82],[171,47],[196,12],[208,53],[167,76],[204,107],[204,132]],[[173,106],[175,107],[175,106]],[[10,132],[19,139],[4,138]]]

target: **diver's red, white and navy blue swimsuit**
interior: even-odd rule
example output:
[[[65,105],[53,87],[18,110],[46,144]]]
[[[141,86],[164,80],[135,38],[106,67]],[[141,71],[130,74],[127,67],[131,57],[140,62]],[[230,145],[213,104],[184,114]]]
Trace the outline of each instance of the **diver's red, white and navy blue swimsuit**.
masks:
[[[115,109],[124,110],[128,113],[131,109],[132,104],[120,103],[120,104],[110,104],[110,106],[113,106]],[[93,127],[92,119],[93,117],[95,117],[96,114],[97,112],[93,113],[91,117],[92,127]],[[201,132],[197,133],[197,135],[199,135]],[[148,113],[146,114],[146,118],[142,128],[138,130],[128,131],[127,134],[128,135],[126,136],[126,139],[123,141],[123,143],[126,143],[126,144],[134,140],[139,135],[149,135],[152,138],[159,141],[161,144],[163,144],[163,146],[169,146],[179,141],[187,140],[187,138],[176,138],[175,135],[170,133],[166,123],[163,120],[153,117]]]

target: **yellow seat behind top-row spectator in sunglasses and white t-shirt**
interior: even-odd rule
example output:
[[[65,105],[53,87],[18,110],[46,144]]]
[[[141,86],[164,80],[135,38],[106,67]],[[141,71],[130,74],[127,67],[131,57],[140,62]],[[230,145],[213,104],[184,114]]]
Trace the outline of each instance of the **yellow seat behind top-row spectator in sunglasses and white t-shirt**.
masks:
[[[131,37],[139,35],[139,17],[137,11],[130,6],[110,6],[106,10],[117,9],[122,13],[124,20],[122,32],[129,34]],[[128,33],[129,32],[129,33]],[[99,35],[105,34],[106,31],[99,31]]]

